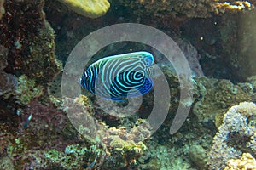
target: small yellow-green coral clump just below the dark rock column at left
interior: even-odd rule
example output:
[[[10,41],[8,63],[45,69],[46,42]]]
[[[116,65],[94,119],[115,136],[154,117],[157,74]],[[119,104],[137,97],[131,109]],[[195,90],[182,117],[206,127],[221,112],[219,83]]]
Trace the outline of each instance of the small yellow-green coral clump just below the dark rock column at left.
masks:
[[[34,80],[28,79],[25,75],[18,78],[18,86],[15,88],[15,99],[18,103],[27,105],[33,99],[37,99],[43,94],[43,87],[37,86]]]

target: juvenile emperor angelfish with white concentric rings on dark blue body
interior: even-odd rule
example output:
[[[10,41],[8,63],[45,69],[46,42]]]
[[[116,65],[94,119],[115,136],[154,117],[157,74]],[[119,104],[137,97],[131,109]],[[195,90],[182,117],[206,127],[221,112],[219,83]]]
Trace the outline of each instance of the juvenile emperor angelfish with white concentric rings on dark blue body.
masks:
[[[154,85],[154,56],[140,51],[108,56],[84,70],[80,85],[90,93],[114,101],[147,94]]]

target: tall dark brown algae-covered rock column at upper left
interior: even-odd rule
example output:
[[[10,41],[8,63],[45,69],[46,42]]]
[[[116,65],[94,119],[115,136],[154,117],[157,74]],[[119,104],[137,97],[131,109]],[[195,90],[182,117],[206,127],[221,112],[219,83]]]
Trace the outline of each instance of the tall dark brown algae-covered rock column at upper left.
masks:
[[[55,31],[45,20],[44,0],[6,1],[0,44],[8,50],[5,71],[46,85],[61,70],[55,59]]]

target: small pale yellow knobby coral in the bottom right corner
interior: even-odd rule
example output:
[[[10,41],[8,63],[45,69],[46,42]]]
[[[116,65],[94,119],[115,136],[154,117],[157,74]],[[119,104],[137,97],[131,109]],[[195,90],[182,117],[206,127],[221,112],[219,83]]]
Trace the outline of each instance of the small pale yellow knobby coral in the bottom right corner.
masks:
[[[256,161],[251,154],[243,153],[241,159],[230,159],[224,170],[256,170]]]

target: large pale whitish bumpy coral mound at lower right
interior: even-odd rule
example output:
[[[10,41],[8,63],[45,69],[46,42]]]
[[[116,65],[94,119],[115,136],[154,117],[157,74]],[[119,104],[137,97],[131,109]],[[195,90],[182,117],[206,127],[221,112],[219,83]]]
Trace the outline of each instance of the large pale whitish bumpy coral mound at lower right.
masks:
[[[243,102],[224,115],[209,152],[210,169],[224,169],[225,162],[236,159],[241,153],[256,153],[256,105]]]

